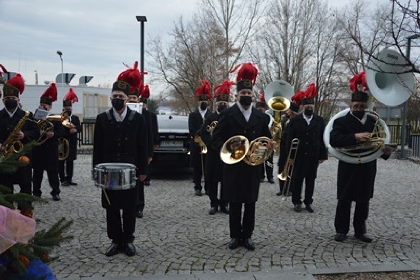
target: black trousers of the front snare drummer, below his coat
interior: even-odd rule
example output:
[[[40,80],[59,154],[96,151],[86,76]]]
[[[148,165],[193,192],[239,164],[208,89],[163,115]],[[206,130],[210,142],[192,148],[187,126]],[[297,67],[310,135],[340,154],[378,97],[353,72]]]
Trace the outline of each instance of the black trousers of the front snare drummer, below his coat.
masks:
[[[134,208],[120,210],[110,207],[106,209],[106,230],[113,243],[132,243],[135,225],[136,213]]]

